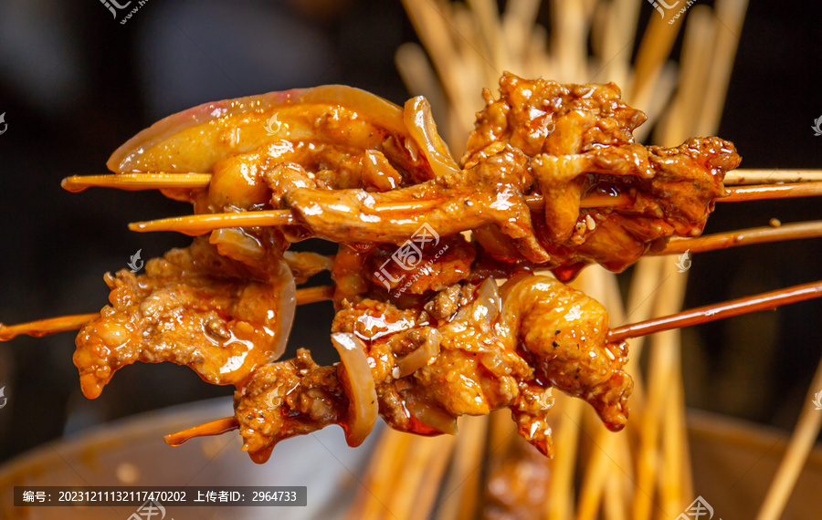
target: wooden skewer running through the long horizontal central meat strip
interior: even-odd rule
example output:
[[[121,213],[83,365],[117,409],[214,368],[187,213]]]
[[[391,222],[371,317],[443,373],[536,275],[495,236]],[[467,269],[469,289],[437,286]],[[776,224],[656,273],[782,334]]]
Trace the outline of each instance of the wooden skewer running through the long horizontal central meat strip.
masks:
[[[717,199],[718,203],[738,203],[743,201],[758,201],[763,199],[783,199],[791,197],[806,197],[822,195],[822,182],[803,182],[781,184],[778,186],[750,186],[728,188],[729,196]],[[532,210],[539,211],[544,207],[541,195],[529,195],[525,202]],[[408,203],[377,204],[374,211],[425,211],[439,205],[441,201],[410,201]],[[583,197],[580,208],[624,207],[633,203],[627,194],[619,195],[590,195]],[[196,236],[206,234],[216,229],[227,227],[253,227],[269,225],[297,224],[297,218],[290,210],[265,210],[242,213],[199,213],[180,217],[170,217],[152,221],[129,224],[129,229],[139,233],[153,231],[175,231],[177,233]]]

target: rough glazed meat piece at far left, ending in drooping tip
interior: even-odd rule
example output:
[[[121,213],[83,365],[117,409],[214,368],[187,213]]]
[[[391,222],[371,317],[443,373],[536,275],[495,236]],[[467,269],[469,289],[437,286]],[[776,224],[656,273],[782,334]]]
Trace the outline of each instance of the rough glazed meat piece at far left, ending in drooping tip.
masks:
[[[91,399],[135,361],[171,361],[210,383],[240,385],[285,348],[295,287],[284,263],[250,269],[200,238],[149,260],[144,275],[122,270],[105,280],[111,306],[80,330],[74,353]]]

